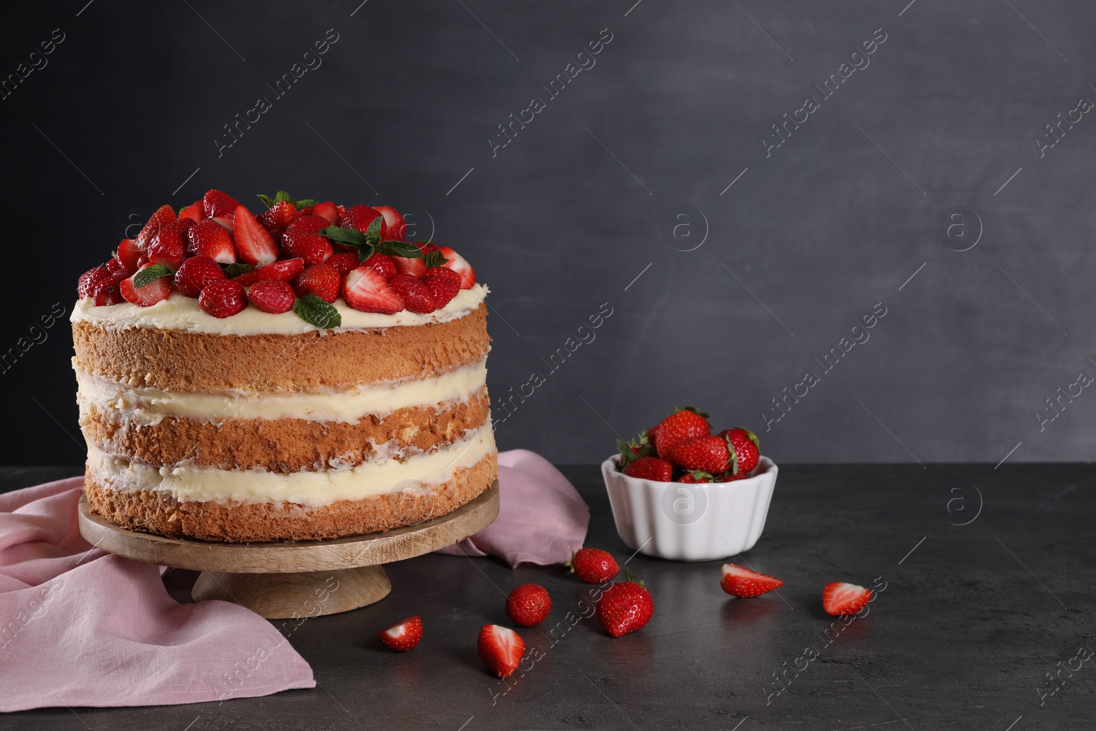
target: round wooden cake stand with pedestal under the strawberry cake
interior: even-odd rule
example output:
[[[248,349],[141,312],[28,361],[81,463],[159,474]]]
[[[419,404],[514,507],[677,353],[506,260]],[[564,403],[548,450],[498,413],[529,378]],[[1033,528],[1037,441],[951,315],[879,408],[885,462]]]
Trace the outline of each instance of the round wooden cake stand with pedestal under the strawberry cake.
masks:
[[[383,563],[460,542],[499,515],[499,481],[448,515],[330,540],[226,544],[127,530],[93,515],[80,498],[80,533],[93,546],[135,561],[201,571],[195,602],[224,599],[267,619],[316,617],[356,609],[392,590]]]

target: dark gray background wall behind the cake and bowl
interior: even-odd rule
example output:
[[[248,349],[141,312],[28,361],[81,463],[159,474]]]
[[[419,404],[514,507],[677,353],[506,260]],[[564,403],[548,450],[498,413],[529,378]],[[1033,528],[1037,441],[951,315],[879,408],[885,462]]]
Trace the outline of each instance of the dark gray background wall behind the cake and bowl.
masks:
[[[0,101],[3,349],[71,310],[132,214],[286,187],[413,213],[471,261],[495,401],[544,378],[498,423],[504,448],[600,460],[696,403],[778,461],[1093,456],[1092,389],[1037,418],[1096,375],[1096,114],[1036,141],[1096,101],[1091,3],[85,2],[9,3],[0,30],[4,77],[64,34]],[[813,85],[883,34],[832,96]],[[219,150],[258,98],[272,108]],[[0,374],[3,462],[81,460],[67,323],[48,333]],[[769,423],[785,387],[807,395]]]

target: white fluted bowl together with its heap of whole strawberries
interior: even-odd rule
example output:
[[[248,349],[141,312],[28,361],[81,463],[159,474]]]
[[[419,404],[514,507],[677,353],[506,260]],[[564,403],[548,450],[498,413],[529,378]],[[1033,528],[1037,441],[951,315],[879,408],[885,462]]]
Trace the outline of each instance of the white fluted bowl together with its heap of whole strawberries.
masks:
[[[715,432],[708,414],[677,409],[602,462],[620,538],[677,561],[749,550],[765,527],[777,467],[747,429]]]

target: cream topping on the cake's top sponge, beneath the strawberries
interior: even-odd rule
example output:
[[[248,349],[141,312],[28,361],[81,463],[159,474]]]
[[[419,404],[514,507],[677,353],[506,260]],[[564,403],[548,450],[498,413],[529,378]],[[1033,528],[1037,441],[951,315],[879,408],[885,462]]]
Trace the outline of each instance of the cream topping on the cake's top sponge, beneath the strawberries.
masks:
[[[459,320],[479,307],[487,294],[486,286],[482,284],[473,285],[470,289],[461,289],[457,293],[457,296],[442,309],[426,315],[408,310],[396,315],[362,312],[351,308],[342,298],[339,298],[334,301],[334,307],[342,316],[342,325],[333,328],[333,330],[335,332],[379,330]],[[198,307],[197,299],[184,297],[178,292],[151,307],[138,307],[129,302],[98,306],[95,300],[85,297],[76,304],[69,319],[72,322],[91,322],[112,330],[149,328],[204,332],[215,335],[297,335],[317,330],[315,325],[305,322],[294,312],[273,315],[263,312],[256,307],[248,307],[232,317],[215,318]]]

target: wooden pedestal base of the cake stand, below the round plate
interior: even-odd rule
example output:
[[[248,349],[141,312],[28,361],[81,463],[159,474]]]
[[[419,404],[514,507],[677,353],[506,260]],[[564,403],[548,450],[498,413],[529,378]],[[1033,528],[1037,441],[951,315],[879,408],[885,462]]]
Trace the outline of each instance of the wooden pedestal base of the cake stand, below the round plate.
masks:
[[[221,599],[267,619],[297,619],[349,612],[379,602],[392,591],[379,566],[298,573],[203,571],[194,582],[195,602]]]

